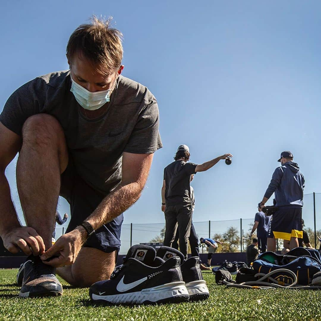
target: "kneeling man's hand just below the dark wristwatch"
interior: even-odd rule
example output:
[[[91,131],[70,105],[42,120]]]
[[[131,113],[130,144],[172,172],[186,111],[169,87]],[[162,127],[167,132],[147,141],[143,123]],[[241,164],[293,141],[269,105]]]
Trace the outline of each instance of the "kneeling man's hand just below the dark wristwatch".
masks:
[[[75,229],[57,239],[56,243],[40,258],[43,263],[54,267],[72,265],[84,242],[85,238],[83,238],[80,230]],[[55,257],[50,259],[52,256]],[[48,259],[49,261],[46,262]]]

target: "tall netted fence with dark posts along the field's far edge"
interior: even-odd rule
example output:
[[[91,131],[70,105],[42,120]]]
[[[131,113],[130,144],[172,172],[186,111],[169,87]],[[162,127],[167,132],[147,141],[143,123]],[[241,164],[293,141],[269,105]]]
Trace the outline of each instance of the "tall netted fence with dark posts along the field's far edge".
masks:
[[[320,204],[320,207],[318,206]],[[311,193],[304,195],[304,206],[302,218],[304,219],[304,230],[308,233],[312,247],[319,248],[321,237],[321,193]],[[219,246],[218,252],[244,252],[247,245],[251,243],[249,234],[254,224],[253,218],[239,218],[236,220],[224,221],[203,221],[193,222],[198,238],[213,238],[223,241]],[[66,227],[56,227],[56,239],[66,230]],[[149,224],[123,224],[121,230],[121,247],[120,255],[127,253],[128,249],[138,243],[162,242],[165,234],[165,222]],[[278,243],[282,247],[282,240]],[[206,252],[206,248],[201,247],[200,252]]]

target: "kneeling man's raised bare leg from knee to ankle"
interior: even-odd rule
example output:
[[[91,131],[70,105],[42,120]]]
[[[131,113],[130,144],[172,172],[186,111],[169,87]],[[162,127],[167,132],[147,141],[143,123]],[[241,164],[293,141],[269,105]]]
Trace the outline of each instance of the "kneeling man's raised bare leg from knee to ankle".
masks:
[[[29,227],[51,246],[57,208],[60,173],[68,164],[65,135],[56,118],[39,114],[22,128],[22,148],[16,176],[22,211]]]

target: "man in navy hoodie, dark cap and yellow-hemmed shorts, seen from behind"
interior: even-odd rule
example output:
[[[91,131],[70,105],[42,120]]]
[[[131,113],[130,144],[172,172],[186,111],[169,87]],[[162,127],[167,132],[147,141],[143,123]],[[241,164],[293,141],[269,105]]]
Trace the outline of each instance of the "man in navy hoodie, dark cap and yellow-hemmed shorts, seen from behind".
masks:
[[[303,237],[304,177],[298,164],[293,162],[293,154],[290,151],[282,152],[278,161],[281,162],[281,166],[274,170],[271,182],[258,206],[264,206],[274,193],[278,211],[273,213],[271,230],[274,239],[290,241],[290,249],[292,249],[299,246],[298,238]],[[268,242],[268,251],[271,250],[275,248],[270,248]]]

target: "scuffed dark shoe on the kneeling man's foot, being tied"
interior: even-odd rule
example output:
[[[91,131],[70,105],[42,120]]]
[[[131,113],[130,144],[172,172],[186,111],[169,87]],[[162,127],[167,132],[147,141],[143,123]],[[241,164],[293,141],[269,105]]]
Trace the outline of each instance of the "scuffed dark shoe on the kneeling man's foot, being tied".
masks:
[[[20,282],[21,275],[23,275],[20,297],[33,298],[62,295],[62,285],[56,278],[55,268],[42,263],[39,256],[30,255],[27,261],[20,266],[19,272],[17,282]]]

